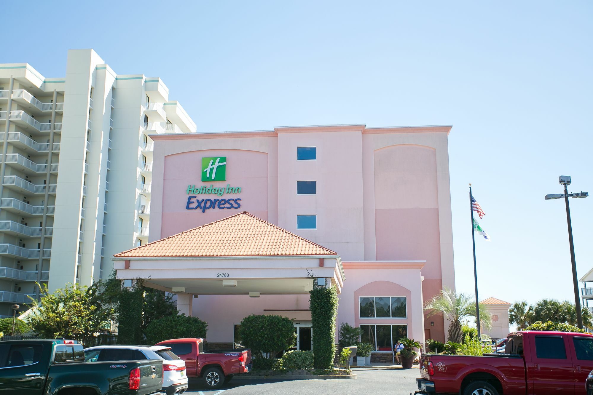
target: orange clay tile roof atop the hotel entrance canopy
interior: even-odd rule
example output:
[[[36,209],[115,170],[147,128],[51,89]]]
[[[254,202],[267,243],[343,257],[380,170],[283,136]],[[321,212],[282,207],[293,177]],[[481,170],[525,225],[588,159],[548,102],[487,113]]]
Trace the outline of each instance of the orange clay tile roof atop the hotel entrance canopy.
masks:
[[[231,215],[114,257],[337,255],[248,212]]]

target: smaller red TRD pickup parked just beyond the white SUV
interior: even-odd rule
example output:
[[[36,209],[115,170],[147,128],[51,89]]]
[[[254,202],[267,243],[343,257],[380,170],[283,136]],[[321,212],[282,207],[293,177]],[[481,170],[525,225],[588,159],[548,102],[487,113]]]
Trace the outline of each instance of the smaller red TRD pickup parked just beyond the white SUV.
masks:
[[[156,345],[170,347],[186,362],[187,377],[202,377],[211,389],[222,387],[234,374],[251,371],[250,349],[208,351],[204,339],[196,337],[165,340]]]

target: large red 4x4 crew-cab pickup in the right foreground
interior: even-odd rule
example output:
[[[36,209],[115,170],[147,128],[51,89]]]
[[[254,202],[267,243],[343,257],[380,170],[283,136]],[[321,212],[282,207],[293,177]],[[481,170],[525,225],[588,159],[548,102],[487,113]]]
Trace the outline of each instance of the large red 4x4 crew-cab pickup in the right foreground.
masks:
[[[417,394],[586,394],[593,370],[593,335],[521,331],[505,353],[422,355]]]

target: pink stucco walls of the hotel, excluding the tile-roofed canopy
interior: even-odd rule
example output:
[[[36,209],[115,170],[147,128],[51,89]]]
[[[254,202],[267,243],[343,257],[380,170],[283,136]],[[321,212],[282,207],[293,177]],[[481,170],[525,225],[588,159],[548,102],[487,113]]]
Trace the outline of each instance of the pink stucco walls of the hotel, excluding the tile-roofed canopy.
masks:
[[[338,125],[155,135],[149,241],[247,211],[336,251],[344,273],[337,324],[382,326],[376,331],[394,325],[400,332],[406,326],[409,337],[442,341],[444,320],[425,318],[422,304],[444,286],[455,288],[450,130]],[[302,147],[314,147],[315,157],[299,160]],[[203,158],[225,158],[224,181],[202,181]],[[315,181],[314,193],[299,193],[298,181]],[[202,186],[223,193],[199,190]],[[214,202],[211,208],[206,199],[235,199],[235,205]],[[314,216],[314,227],[299,226],[298,216]],[[135,265],[130,262],[127,270]],[[123,263],[115,267],[119,278],[132,278]],[[208,322],[209,342],[231,342],[234,324],[250,313],[282,311],[307,321],[306,292],[262,292],[259,298],[219,293],[192,291],[198,296],[190,302],[180,296],[193,315]],[[391,303],[391,316],[361,317],[360,298]],[[397,314],[404,317],[393,317],[394,303],[403,300],[405,314],[401,309]]]

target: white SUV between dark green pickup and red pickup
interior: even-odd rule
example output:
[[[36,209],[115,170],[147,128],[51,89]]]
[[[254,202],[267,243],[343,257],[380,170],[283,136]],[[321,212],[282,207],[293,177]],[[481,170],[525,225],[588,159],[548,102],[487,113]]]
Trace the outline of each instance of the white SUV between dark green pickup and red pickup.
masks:
[[[166,346],[95,346],[84,350],[85,362],[134,361],[136,359],[162,360],[162,389],[167,395],[181,394],[187,390],[185,361]]]

